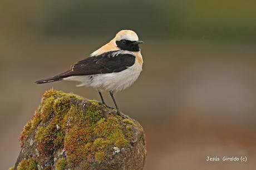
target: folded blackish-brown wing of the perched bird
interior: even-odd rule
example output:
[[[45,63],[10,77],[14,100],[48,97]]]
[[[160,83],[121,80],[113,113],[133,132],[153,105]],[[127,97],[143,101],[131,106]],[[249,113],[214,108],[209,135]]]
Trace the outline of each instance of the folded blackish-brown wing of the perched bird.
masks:
[[[124,51],[111,51],[83,59],[74,64],[69,71],[55,77],[83,76],[121,72],[135,63],[135,56]]]

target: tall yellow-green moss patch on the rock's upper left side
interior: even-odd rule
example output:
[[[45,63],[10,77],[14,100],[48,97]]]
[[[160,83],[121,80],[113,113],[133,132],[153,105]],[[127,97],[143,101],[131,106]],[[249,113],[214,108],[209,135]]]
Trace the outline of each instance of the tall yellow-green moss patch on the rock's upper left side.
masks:
[[[47,91],[43,96],[45,98],[43,98],[40,109],[42,121],[46,122],[47,119],[54,117],[46,127],[41,126],[37,130],[35,139],[40,151],[47,155],[52,153],[55,148],[63,147],[66,133],[63,127],[63,118],[70,109],[70,98],[68,96],[73,96],[53,89]],[[58,98],[55,99],[55,96]]]

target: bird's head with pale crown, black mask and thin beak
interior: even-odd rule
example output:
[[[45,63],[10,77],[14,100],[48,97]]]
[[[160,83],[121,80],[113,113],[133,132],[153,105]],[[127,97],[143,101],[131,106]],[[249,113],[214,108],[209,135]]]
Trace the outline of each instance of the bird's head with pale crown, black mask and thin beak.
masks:
[[[139,41],[137,34],[131,30],[119,31],[114,41],[117,47],[127,51],[140,51],[139,44],[144,43],[143,41]]]

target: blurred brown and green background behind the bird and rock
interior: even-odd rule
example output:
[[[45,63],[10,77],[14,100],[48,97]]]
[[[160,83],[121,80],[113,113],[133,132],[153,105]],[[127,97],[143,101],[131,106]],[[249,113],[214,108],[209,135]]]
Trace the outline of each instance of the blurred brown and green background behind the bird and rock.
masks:
[[[145,42],[141,76],[116,94],[121,111],[145,129],[145,169],[254,169],[255,6],[253,0],[1,0],[0,169],[16,162],[19,134],[46,89],[100,100],[75,82],[34,82],[66,71],[121,29]],[[207,156],[248,162],[206,162]]]

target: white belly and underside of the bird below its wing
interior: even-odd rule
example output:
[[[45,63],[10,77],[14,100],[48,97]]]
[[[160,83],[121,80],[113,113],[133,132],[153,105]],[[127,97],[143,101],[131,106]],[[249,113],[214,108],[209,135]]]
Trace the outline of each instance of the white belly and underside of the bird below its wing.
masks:
[[[141,71],[141,66],[135,63],[133,66],[118,73],[71,76],[64,79],[81,82],[81,84],[77,86],[87,86],[105,91],[119,92],[130,87],[139,77]]]

